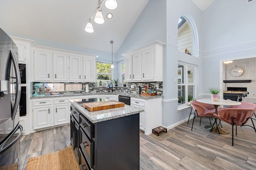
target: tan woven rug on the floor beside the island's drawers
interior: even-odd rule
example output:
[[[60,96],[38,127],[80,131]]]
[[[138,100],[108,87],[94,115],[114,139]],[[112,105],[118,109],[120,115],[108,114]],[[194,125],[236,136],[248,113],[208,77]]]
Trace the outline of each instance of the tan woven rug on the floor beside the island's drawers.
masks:
[[[29,158],[26,170],[80,170],[72,147]]]

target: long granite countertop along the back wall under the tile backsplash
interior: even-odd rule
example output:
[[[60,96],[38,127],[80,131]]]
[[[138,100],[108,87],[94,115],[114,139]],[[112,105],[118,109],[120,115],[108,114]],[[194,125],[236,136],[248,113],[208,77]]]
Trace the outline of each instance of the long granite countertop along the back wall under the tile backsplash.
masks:
[[[144,96],[141,94],[130,94],[130,93],[120,93],[120,92],[102,92],[102,93],[70,93],[70,94],[45,94],[45,96],[31,96],[31,99],[37,99],[37,98],[56,98],[56,97],[68,97],[68,96],[87,96],[87,95],[121,95],[131,98],[141,98],[141,99],[154,99],[154,98],[162,98],[161,95],[156,96]]]

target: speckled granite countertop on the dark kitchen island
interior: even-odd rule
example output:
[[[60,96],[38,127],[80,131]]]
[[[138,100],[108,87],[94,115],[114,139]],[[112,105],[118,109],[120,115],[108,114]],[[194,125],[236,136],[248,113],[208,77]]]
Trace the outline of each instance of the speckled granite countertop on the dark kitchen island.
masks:
[[[134,115],[143,112],[144,109],[136,106],[125,105],[124,107],[117,107],[114,109],[105,109],[99,111],[88,111],[84,107],[80,106],[74,100],[69,100],[71,105],[82,113],[87,119],[92,123],[97,123],[101,121],[116,119],[118,117],[124,117],[128,115]]]

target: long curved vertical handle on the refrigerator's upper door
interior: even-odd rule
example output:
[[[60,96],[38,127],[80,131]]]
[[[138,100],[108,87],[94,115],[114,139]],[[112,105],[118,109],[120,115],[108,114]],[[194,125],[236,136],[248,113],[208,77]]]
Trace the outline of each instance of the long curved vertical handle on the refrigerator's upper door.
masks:
[[[15,70],[15,74],[16,74],[16,98],[15,98],[15,102],[14,102],[14,106],[13,106],[13,113],[12,113],[12,120],[14,119],[19,103],[20,103],[20,93],[21,93],[21,85],[20,85],[20,69],[19,69],[19,64],[18,61],[16,60],[16,52],[14,51],[14,49],[10,49],[11,51],[11,57],[12,57],[12,61],[14,64],[14,70]]]

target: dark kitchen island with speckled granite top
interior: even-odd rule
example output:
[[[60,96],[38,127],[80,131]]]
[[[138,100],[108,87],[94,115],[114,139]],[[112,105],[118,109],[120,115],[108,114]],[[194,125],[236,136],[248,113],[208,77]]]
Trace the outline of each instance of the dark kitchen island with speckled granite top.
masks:
[[[82,169],[139,170],[139,114],[144,109],[125,105],[87,111],[71,102],[71,145]]]

